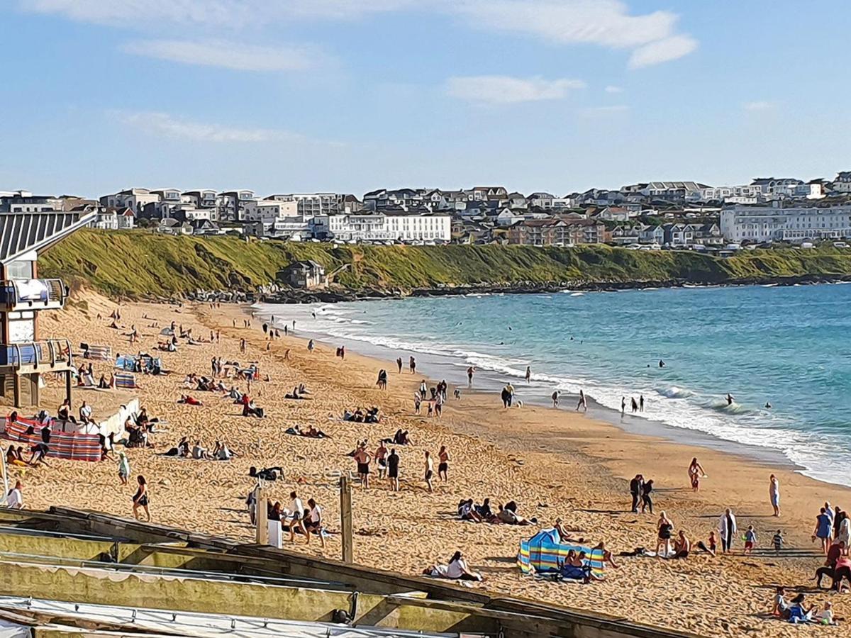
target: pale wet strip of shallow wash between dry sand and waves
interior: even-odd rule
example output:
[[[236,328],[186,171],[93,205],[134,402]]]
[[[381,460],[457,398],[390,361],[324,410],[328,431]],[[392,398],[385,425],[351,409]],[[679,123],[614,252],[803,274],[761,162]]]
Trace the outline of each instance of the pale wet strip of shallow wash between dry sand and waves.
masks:
[[[320,307],[319,304],[313,306],[316,310]],[[305,314],[310,310],[312,309],[308,308],[304,310]],[[252,316],[266,316],[267,319],[274,314],[266,312],[266,310],[261,311],[257,304],[244,306],[244,311]],[[302,317],[302,325],[304,324],[303,319],[304,317]],[[283,327],[279,326],[279,328]],[[394,350],[386,345],[375,344],[374,342],[367,340],[336,337],[333,334],[319,330],[311,330],[309,328],[299,328],[299,335],[300,339],[312,338],[329,348],[336,348],[337,346],[345,345],[346,350],[384,362],[386,366],[388,366],[388,372],[395,372],[396,364],[394,359],[395,356],[399,355],[400,350]],[[500,388],[504,385],[505,379],[507,378],[505,373],[487,369],[480,370],[477,371],[476,376],[477,387],[475,389],[468,389],[465,384],[465,368],[459,365],[460,359],[454,359],[452,356],[423,352],[420,350],[401,349],[401,352],[403,352],[406,356],[414,355],[416,357],[418,373],[421,369],[423,371],[423,376],[425,376],[426,379],[431,379],[434,383],[437,383],[439,379],[447,379],[448,382],[450,382],[450,385],[460,388],[463,392],[472,392],[476,395],[488,397],[488,400],[493,402],[498,402]],[[404,358],[405,357],[403,356],[403,359]],[[392,371],[390,369],[391,367],[393,367]],[[407,360],[405,362],[404,369],[407,370]],[[483,383],[480,379],[483,379]],[[518,377],[511,377],[511,382],[517,387],[518,391],[524,390],[528,387],[527,385],[524,385],[521,378]],[[536,384],[536,389],[540,389],[540,385],[541,384]],[[521,398],[525,403],[530,405],[551,409],[551,401],[549,399],[548,392],[549,389],[544,392],[534,392],[529,396],[529,398],[525,398],[524,396],[521,396]],[[593,396],[586,395],[586,397],[588,398],[588,410],[584,413],[575,412],[577,416],[612,425],[614,428],[622,430],[626,434],[660,438],[679,445],[704,447],[719,453],[729,453],[740,458],[750,459],[751,461],[765,464],[767,466],[791,470],[801,474],[802,476],[807,476],[814,481],[825,483],[825,485],[848,487],[842,483],[826,481],[817,476],[808,475],[806,473],[808,471],[807,468],[795,463],[785,456],[785,454],[780,450],[771,447],[761,447],[742,443],[739,441],[730,441],[722,438],[721,436],[714,436],[703,430],[689,430],[687,428],[677,427],[676,425],[666,424],[660,420],[653,419],[652,417],[636,416],[631,413],[626,413],[625,416],[621,416],[620,412],[614,408],[604,406],[602,403],[597,402]],[[577,401],[578,395],[562,393],[560,399],[563,404],[559,406],[558,412],[574,413],[573,405]]]

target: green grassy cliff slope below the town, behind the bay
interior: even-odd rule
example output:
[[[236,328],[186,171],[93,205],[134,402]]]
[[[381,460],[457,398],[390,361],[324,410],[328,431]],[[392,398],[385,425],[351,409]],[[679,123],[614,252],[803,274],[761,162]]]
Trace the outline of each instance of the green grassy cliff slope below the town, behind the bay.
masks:
[[[608,246],[340,246],[237,237],[174,237],[149,231],[79,231],[39,259],[43,276],[82,281],[128,297],[198,288],[251,290],[295,259],[314,259],[350,290],[547,282],[698,283],[780,277],[851,276],[851,251],[749,251],[730,259],[693,252]]]

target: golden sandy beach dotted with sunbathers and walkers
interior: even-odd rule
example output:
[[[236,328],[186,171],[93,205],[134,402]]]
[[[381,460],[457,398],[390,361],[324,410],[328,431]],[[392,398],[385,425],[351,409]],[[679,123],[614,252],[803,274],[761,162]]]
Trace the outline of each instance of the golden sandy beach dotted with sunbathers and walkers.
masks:
[[[373,478],[368,490],[355,488],[355,559],[365,565],[399,572],[419,573],[435,562],[447,562],[462,550],[471,567],[482,572],[488,590],[511,592],[538,601],[599,609],[623,614],[649,624],[686,629],[700,635],[846,635],[837,627],[797,627],[771,618],[775,584],[808,594],[820,606],[833,601],[839,617],[851,617],[851,595],[814,590],[814,570],[823,563],[820,548],[811,542],[820,504],[830,501],[851,509],[851,490],[814,481],[791,468],[758,464],[728,453],[674,444],[660,438],[627,434],[601,421],[574,412],[564,402],[559,409],[526,405],[503,410],[499,396],[466,389],[459,401],[449,399],[441,419],[413,413],[414,390],[422,375],[397,373],[394,362],[381,362],[354,353],[334,356],[334,345],[317,344],[312,353],[298,337],[266,340],[260,320],[243,328],[249,318],[237,306],[122,304],[120,324],[113,329],[109,314],[117,305],[86,293],[60,313],[40,319],[43,338],[68,337],[73,342],[111,345],[116,352],[153,351],[159,331],[171,322],[191,328],[197,338],[220,332],[220,342],[186,345],[181,340],[174,353],[157,353],[173,373],[140,375],[141,405],[151,416],[166,419],[168,431],[154,436],[155,450],[129,449],[133,475],[147,477],[151,487],[151,514],[156,521],[232,538],[253,538],[244,499],[253,487],[249,466],[281,465],[283,481],[271,487],[271,498],[287,505],[292,490],[300,498],[316,498],[325,520],[338,532],[340,472],[355,470],[346,456],[358,440],[370,448],[399,428],[409,430],[414,444],[398,448],[402,490],[392,493],[386,481]],[[100,318],[99,318],[100,315]],[[282,316],[281,318],[285,318]],[[142,337],[130,345],[126,336],[135,326]],[[246,339],[247,352],[240,351]],[[285,353],[289,350],[288,360]],[[399,353],[407,362],[407,353]],[[266,409],[266,419],[243,418],[241,408],[218,394],[186,390],[186,373],[208,374],[210,359],[259,362],[260,380],[251,396]],[[95,362],[95,379],[108,374],[110,364]],[[390,374],[386,391],[375,386],[380,368]],[[421,371],[427,375],[428,370]],[[57,380],[49,385],[59,387]],[[226,380],[230,386],[231,381]],[[284,394],[304,383],[311,390],[307,401],[288,401]],[[236,383],[237,388],[244,383]],[[203,406],[178,404],[181,394],[191,394]],[[74,406],[83,400],[106,406],[110,397],[102,390],[75,390]],[[346,409],[380,407],[380,424],[340,420]],[[56,406],[49,406],[55,413]],[[288,436],[284,430],[298,424],[316,426],[329,439]],[[225,440],[240,454],[228,463],[192,461],[158,456],[176,445],[181,436],[212,448]],[[424,453],[437,455],[441,445],[451,456],[448,483],[436,482],[434,493],[422,480]],[[708,475],[700,493],[692,493],[687,468],[700,459]],[[26,504],[43,509],[51,504],[104,510],[132,516],[134,486],[121,486],[117,464],[89,464],[50,459],[49,468],[12,470],[24,482]],[[665,510],[692,542],[706,541],[717,527],[725,507],[738,517],[740,535],[752,524],[758,551],[742,555],[740,538],[732,555],[712,557],[693,553],[684,561],[646,557],[617,557],[619,569],[607,567],[606,579],[589,585],[553,584],[522,577],[515,565],[517,544],[557,517],[576,529],[590,544],[604,540],[617,555],[637,547],[654,549],[658,516],[630,512],[628,481],[637,473],[654,479],[654,511]],[[782,516],[771,516],[768,476],[780,479]],[[523,516],[536,517],[534,527],[477,524],[457,520],[462,498],[485,497],[492,504],[517,501]],[[768,551],[771,537],[783,531],[780,555]],[[294,550],[340,555],[340,536],[332,534],[325,550],[317,539],[306,545],[297,538]],[[788,596],[791,598],[791,596]]]

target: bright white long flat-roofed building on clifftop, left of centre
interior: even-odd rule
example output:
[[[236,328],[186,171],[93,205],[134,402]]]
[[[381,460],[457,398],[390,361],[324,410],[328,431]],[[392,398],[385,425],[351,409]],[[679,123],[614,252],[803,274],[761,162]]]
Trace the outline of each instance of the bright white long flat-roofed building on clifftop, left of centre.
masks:
[[[360,213],[320,215],[313,219],[314,235],[342,242],[448,242],[449,215],[431,213]]]

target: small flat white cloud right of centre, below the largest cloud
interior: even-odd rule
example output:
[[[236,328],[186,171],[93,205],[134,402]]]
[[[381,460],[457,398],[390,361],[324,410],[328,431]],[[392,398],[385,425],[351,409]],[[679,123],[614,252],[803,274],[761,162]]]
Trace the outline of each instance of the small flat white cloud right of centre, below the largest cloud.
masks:
[[[510,76],[450,77],[446,83],[447,93],[454,98],[488,104],[562,100],[574,88],[585,88],[585,83],[565,78]]]

